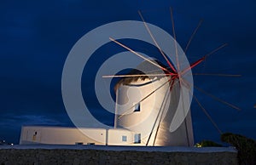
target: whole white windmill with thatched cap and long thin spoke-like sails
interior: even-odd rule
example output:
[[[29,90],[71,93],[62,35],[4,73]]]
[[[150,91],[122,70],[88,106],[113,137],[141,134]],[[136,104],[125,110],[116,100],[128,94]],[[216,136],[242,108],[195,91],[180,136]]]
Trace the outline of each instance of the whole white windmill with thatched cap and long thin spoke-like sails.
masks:
[[[182,87],[185,87],[185,90],[189,91],[190,96],[193,96],[194,100],[201,107],[201,110],[204,111],[206,116],[212,122],[213,126],[218,130],[218,133],[222,134],[222,131],[218,128],[218,125],[212,120],[212,117],[201,105],[200,101],[192,94],[189,83],[183,77],[196,65],[199,65],[202,61],[206,60],[209,55],[214,54],[220,48],[224,48],[227,44],[225,43],[218,48],[212,50],[212,52],[210,52],[209,54],[202,56],[199,60],[196,60],[194,63],[189,65],[189,67],[181,69],[179,57],[177,54],[177,42],[172,9],[171,18],[173,38],[175,41],[174,46],[176,49],[176,67],[166,56],[165,52],[160,48],[146,21],[143,19],[143,15],[141,14],[141,12],[139,12],[139,15],[143,20],[146,30],[148,31],[148,35],[150,35],[150,37],[154,41],[154,46],[159,49],[160,54],[166,60],[166,65],[163,65],[163,63],[159,60],[148,59],[143,56],[143,54],[139,54],[132,48],[127,47],[125,44],[116,41],[112,37],[109,37],[109,39],[114,43],[117,43],[119,46],[130,51],[132,54],[136,54],[138,57],[144,60],[141,65],[138,65],[136,69],[133,69],[127,75],[103,76],[121,77],[119,83],[117,83],[115,86],[117,106],[114,127],[128,128],[129,130],[134,131],[135,135],[137,136],[135,139],[137,139],[137,142],[143,143],[143,145],[194,145],[190,111],[181,112],[184,116],[183,121],[180,122],[178,128],[175,128],[174,131],[170,131],[170,124],[172,124],[172,120],[175,118],[175,115],[177,113],[177,102],[186,101],[183,100],[183,94],[180,92],[183,90]],[[201,23],[202,21],[199,22],[198,26],[195,28],[195,31],[192,33],[192,36],[190,37],[186,48],[184,48],[184,53],[186,53],[186,51],[188,50],[189,44],[195,36],[196,31],[198,31],[199,27],[201,26]],[[224,74],[205,75],[230,77],[239,76]],[[140,94],[137,93],[137,88],[139,88]],[[198,88],[196,86],[195,88],[201,91],[203,94],[207,94],[208,96],[212,97],[212,99],[214,100],[218,100],[225,105],[229,105],[236,110],[240,110],[235,105],[231,105],[224,100],[220,100],[218,99],[218,97],[212,94],[208,94],[201,88]],[[131,97],[129,99],[127,99],[126,97],[128,90],[130,90],[131,92]],[[119,106],[119,104],[122,105],[127,101],[129,102],[129,104],[126,104],[125,106]],[[152,111],[147,111],[150,108],[152,109]]]

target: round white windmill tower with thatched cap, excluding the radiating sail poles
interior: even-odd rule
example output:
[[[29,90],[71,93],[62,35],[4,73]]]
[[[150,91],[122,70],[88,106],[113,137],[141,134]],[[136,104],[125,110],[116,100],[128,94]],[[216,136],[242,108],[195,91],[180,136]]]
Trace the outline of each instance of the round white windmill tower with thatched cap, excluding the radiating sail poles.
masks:
[[[155,64],[166,68],[160,62]],[[157,66],[144,61],[127,77],[120,79],[115,86],[115,128],[131,130],[135,143],[141,145],[192,146],[194,138],[190,111],[174,132],[169,131],[177,111],[180,86],[177,80],[163,73]],[[135,75],[140,76],[132,77]]]

